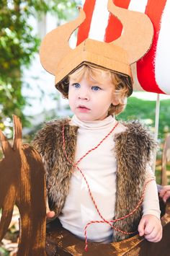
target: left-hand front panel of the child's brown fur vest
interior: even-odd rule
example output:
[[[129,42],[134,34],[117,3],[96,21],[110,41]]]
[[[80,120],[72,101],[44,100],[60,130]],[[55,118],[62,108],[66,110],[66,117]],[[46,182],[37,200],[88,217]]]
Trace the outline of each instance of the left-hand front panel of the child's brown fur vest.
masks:
[[[62,127],[65,125],[66,152],[73,162],[76,151],[76,131],[78,127],[68,125],[68,120],[47,123],[37,133],[33,146],[42,156],[45,166],[47,193],[50,209],[55,216],[61,213],[69,191],[72,166],[63,152]]]

